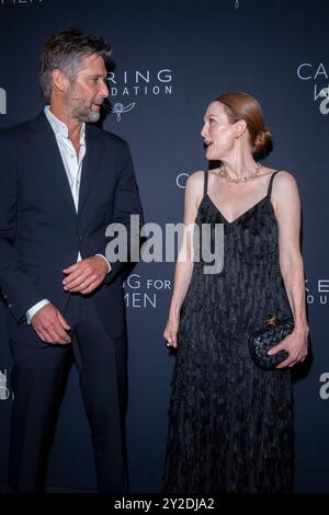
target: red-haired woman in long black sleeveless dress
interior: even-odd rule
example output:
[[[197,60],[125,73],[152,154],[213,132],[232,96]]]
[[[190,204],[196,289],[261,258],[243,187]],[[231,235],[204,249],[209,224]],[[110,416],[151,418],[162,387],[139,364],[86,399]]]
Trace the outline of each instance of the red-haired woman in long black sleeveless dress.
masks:
[[[190,176],[184,225],[224,225],[224,266],[204,273],[185,230],[164,330],[177,356],[163,490],[288,492],[291,367],[305,359],[308,334],[298,190],[288,172],[257,161],[272,141],[252,96],[212,102],[202,137],[219,167]],[[270,314],[292,314],[295,329],[274,351],[288,357],[265,371],[248,335]]]

